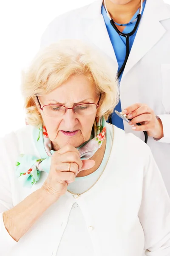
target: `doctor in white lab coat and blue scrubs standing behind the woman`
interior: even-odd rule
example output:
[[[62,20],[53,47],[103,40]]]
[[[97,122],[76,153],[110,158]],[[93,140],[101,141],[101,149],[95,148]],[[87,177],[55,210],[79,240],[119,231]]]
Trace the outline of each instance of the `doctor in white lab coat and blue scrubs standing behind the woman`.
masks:
[[[142,140],[147,131],[170,195],[170,6],[162,0],[97,0],[55,18],[41,47],[67,38],[95,45],[118,70],[116,110],[132,121],[114,114],[110,122]],[[142,125],[132,126],[137,122]]]

